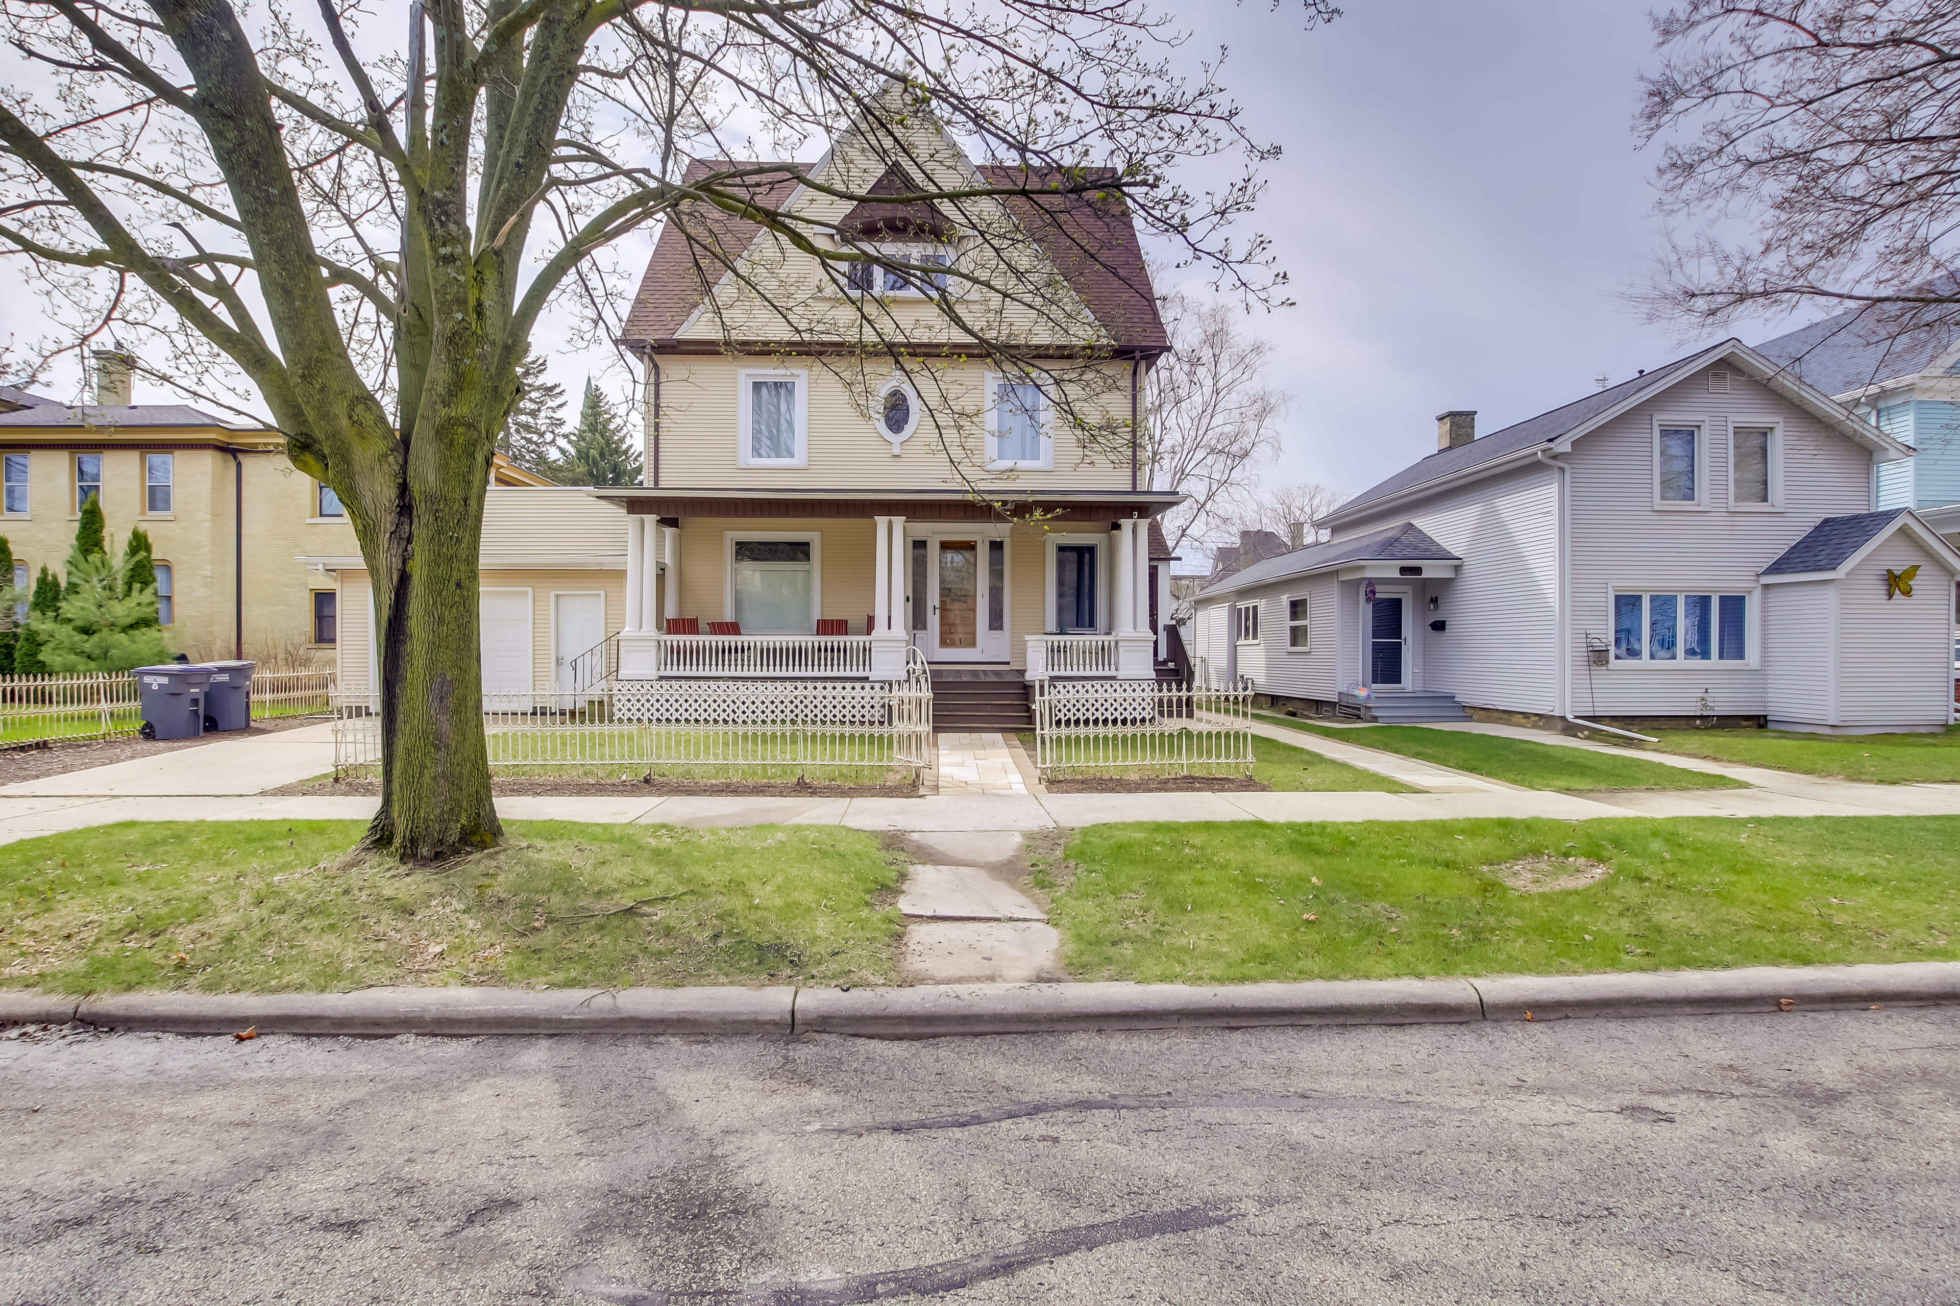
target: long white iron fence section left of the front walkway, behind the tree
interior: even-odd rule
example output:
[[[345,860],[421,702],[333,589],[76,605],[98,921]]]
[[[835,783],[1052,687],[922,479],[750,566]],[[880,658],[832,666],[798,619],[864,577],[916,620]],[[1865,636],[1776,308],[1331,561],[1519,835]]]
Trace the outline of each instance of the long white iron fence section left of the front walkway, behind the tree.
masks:
[[[580,693],[486,689],[492,775],[882,783],[931,758],[933,683],[913,652],[900,681],[608,679]],[[345,695],[333,773],[380,773],[380,717]]]

